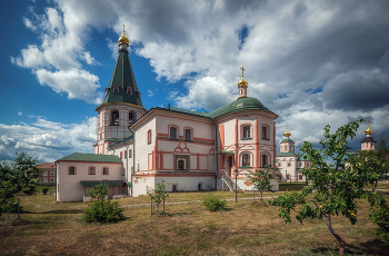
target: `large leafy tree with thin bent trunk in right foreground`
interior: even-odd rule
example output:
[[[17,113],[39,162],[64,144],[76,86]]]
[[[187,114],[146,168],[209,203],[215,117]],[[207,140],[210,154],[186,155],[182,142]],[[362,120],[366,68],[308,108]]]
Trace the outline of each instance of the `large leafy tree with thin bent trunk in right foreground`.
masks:
[[[296,218],[302,223],[307,218],[325,218],[330,234],[338,240],[339,254],[345,253],[346,243],[337,234],[331,225],[331,215],[343,215],[351,224],[357,223],[356,199],[368,199],[371,206],[381,204],[383,198],[375,191],[363,190],[369,179],[367,171],[358,167],[358,158],[347,146],[348,138],[353,138],[359,124],[363,119],[339,127],[335,134],[330,134],[330,126],[325,127],[325,138],[320,140],[321,148],[313,149],[310,142],[305,141],[300,150],[311,160],[312,165],[306,167],[303,175],[311,185],[305,187],[300,194],[286,194],[272,200],[271,205],[281,206],[279,216],[286,223],[290,223],[290,210],[296,210],[296,205],[309,194],[313,197],[306,200],[297,211]],[[330,159],[331,161],[328,161]]]

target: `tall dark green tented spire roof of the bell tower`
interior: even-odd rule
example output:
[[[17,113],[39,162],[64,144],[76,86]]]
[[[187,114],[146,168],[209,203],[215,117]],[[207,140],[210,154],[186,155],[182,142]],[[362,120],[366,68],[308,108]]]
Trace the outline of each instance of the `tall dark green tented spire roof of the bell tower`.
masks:
[[[113,93],[113,86],[119,86],[119,93]],[[132,88],[132,95],[127,93],[127,87]],[[142,107],[142,101],[138,99],[137,81],[133,76],[130,58],[127,50],[120,50],[109,82],[109,91],[102,104],[126,102]]]

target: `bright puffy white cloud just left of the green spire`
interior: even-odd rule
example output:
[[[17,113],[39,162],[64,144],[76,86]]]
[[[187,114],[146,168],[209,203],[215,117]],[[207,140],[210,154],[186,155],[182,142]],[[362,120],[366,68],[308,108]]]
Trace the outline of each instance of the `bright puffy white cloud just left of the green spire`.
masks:
[[[69,99],[82,99],[90,104],[101,104],[102,92],[99,78],[86,70],[67,70],[51,72],[46,69],[36,71],[41,85],[51,87],[56,92],[67,92]]]

